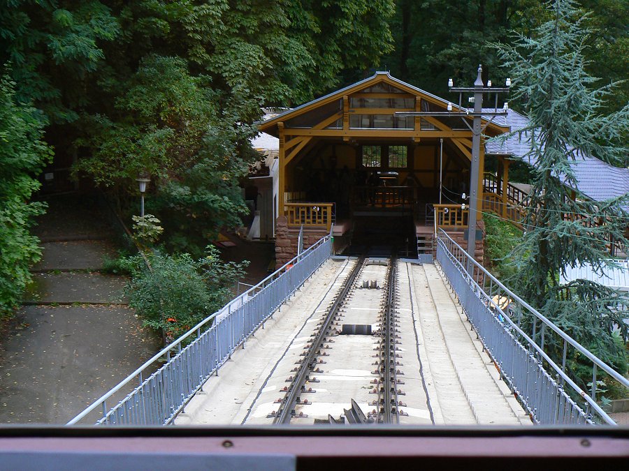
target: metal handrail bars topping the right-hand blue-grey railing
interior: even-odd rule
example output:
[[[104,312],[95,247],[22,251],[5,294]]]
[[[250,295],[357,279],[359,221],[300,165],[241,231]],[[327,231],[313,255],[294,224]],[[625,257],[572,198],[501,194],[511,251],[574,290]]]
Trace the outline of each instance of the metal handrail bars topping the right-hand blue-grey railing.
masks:
[[[452,251],[450,251],[447,248],[446,242],[448,244],[451,244],[452,246],[454,246],[454,248],[458,252],[458,257],[456,255],[454,255],[454,253],[452,253]],[[572,338],[571,336],[566,334],[563,330],[561,330],[553,322],[551,322],[547,317],[545,317],[544,315],[539,313],[537,310],[535,310],[535,308],[533,308],[532,306],[530,306],[530,304],[528,304],[526,301],[521,299],[521,297],[519,297],[518,295],[514,294],[505,285],[503,285],[503,283],[500,283],[500,281],[498,281],[498,279],[496,277],[494,277],[492,274],[490,274],[489,271],[487,271],[484,267],[482,267],[481,264],[479,264],[476,260],[474,260],[472,257],[470,257],[468,255],[468,253],[466,253],[463,250],[463,248],[461,248],[461,246],[456,244],[456,242],[453,239],[451,239],[451,237],[449,237],[449,235],[444,230],[440,230],[439,237],[438,237],[438,244],[440,244],[440,247],[447,253],[447,258],[452,263],[454,263],[454,265],[456,267],[456,270],[462,276],[465,277],[465,283],[468,284],[468,286],[471,288],[472,292],[477,297],[479,297],[480,294],[483,294],[484,297],[486,298],[486,300],[485,300],[486,306],[487,305],[491,306],[491,310],[494,313],[500,313],[500,315],[502,317],[502,319],[500,320],[500,323],[503,324],[503,328],[505,329],[505,333],[507,335],[511,335],[511,334],[509,334],[509,330],[513,330],[513,331],[516,331],[518,334],[520,334],[526,340],[528,345],[530,345],[530,347],[533,350],[535,350],[535,352],[537,352],[538,357],[540,357],[539,358],[540,368],[542,368],[542,366],[541,366],[541,359],[544,359],[545,361],[547,361],[549,366],[551,366],[551,368],[556,372],[556,374],[559,377],[561,377],[561,379],[565,383],[570,385],[570,387],[572,387],[572,389],[574,389],[574,391],[576,391],[577,394],[581,398],[583,398],[584,401],[586,401],[586,403],[589,405],[589,407],[591,407],[593,410],[595,410],[595,412],[597,412],[600,415],[600,417],[604,421],[607,422],[607,424],[615,424],[613,419],[611,419],[609,417],[609,415],[607,415],[607,413],[604,410],[602,410],[602,408],[600,408],[598,403],[596,403],[596,401],[595,401],[595,391],[596,391],[595,374],[596,374],[596,369],[600,368],[602,371],[605,371],[605,373],[607,373],[611,377],[613,377],[614,380],[618,381],[624,387],[627,387],[627,388],[629,388],[629,380],[627,380],[626,377],[623,377],[623,375],[621,375],[620,373],[614,371],[613,368],[611,368],[609,365],[605,364],[604,361],[602,361],[601,359],[596,357],[592,352],[590,352],[585,347],[583,347],[581,344],[579,344],[577,341],[575,341],[574,338]],[[462,260],[459,260],[459,257],[461,257]],[[465,263],[464,262],[467,262],[467,260],[470,260],[470,262],[472,262],[473,266],[475,267],[475,270],[472,271],[472,273],[475,273],[475,276],[472,276],[472,275],[468,274],[468,271],[465,270]],[[478,283],[478,281],[477,281],[481,274],[482,274],[482,277],[483,277],[483,286],[480,285]],[[450,279],[451,277],[448,276],[448,278],[449,278],[449,281],[451,283],[453,283],[453,281]],[[476,280],[475,280],[475,278],[476,278]],[[544,352],[544,343],[543,343],[544,342],[544,334],[543,334],[544,327],[542,327],[542,345],[540,346],[540,345],[537,345],[537,343],[533,340],[533,338],[528,336],[528,334],[526,334],[519,327],[518,324],[516,324],[515,322],[513,322],[511,320],[511,318],[509,317],[509,315],[506,312],[507,311],[506,306],[504,306],[504,305],[502,307],[500,306],[500,304],[502,304],[500,302],[500,299],[498,299],[498,303],[496,303],[496,301],[494,301],[494,299],[491,297],[491,294],[487,294],[485,292],[484,285],[485,285],[486,280],[488,278],[489,278],[489,281],[490,281],[490,287],[493,287],[493,285],[496,285],[496,287],[500,287],[500,289],[503,290],[502,294],[504,294],[505,297],[507,299],[509,299],[509,303],[512,302],[512,301],[515,301],[520,306],[523,306],[524,308],[526,308],[528,310],[528,312],[530,314],[532,314],[535,317],[535,319],[540,320],[542,322],[542,326],[549,327],[552,331],[556,332],[556,334],[558,334],[561,338],[563,338],[563,341],[564,341],[564,353],[563,353],[563,356],[564,357],[563,357],[563,366],[562,367],[558,366],[558,364],[556,364],[556,362],[553,359],[551,359],[546,352]],[[492,291],[491,288],[490,288],[490,291]],[[461,298],[463,293],[458,292],[457,294]],[[509,327],[506,327],[504,322],[509,324]],[[472,322],[472,324],[473,324],[473,322]],[[535,326],[535,324],[534,324],[534,326]],[[477,326],[475,326],[475,327],[477,327]],[[479,335],[483,336],[482,333],[479,333]],[[535,337],[535,327],[534,327],[534,331],[533,331],[533,337]],[[567,344],[572,345],[572,347],[574,347],[578,352],[580,352],[585,357],[590,359],[593,362],[593,364],[594,364],[594,377],[593,377],[593,386],[592,386],[592,394],[591,395],[588,395],[585,391],[583,391],[577,384],[574,383],[573,380],[570,379],[570,377],[568,377],[565,374],[565,355],[566,355],[566,351],[567,351]],[[489,349],[489,347],[488,347],[488,350],[490,350],[490,353],[491,353],[491,349]],[[492,353],[492,356],[494,358],[496,358],[495,352]],[[501,362],[501,359],[497,359],[497,361]],[[533,406],[530,406],[530,409],[534,409]],[[588,419],[587,421],[591,423],[591,419]]]

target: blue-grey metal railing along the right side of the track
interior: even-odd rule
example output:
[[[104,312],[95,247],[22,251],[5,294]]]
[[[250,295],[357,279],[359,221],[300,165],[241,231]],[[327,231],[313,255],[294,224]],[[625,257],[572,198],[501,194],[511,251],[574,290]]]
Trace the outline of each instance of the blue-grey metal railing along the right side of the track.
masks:
[[[565,334],[474,259],[474,270],[468,274],[465,266],[469,258],[444,230],[439,231],[437,260],[468,320],[533,420],[537,424],[615,425],[596,401],[598,375],[607,373],[628,392],[629,380]],[[532,330],[530,334],[525,328]],[[544,350],[551,343],[563,352],[557,362]],[[566,360],[574,354],[593,365],[590,394],[566,373]]]

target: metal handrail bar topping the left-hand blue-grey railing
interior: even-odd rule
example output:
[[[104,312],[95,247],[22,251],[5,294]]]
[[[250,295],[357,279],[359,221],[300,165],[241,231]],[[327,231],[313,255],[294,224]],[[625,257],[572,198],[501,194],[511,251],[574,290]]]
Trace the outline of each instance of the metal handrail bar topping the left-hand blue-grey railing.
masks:
[[[301,253],[301,255],[293,257],[291,260],[289,260],[289,262],[287,262],[284,265],[282,265],[282,267],[280,267],[280,269],[277,269],[275,272],[273,272],[273,274],[270,274],[269,276],[264,278],[262,281],[260,281],[259,283],[257,283],[253,287],[251,287],[249,290],[243,292],[243,294],[240,294],[237,297],[235,297],[234,299],[232,299],[231,301],[229,301],[229,303],[226,304],[223,308],[219,309],[219,311],[213,313],[212,315],[206,317],[204,320],[202,320],[201,322],[196,324],[194,327],[192,327],[189,331],[187,331],[186,334],[183,334],[177,340],[173,341],[173,343],[171,343],[169,345],[166,345],[166,347],[164,347],[159,352],[157,352],[157,354],[154,354],[154,356],[151,357],[149,360],[145,361],[144,364],[142,364],[139,368],[137,368],[135,371],[133,371],[133,373],[128,375],[124,380],[119,382],[115,387],[113,387],[108,392],[106,392],[106,394],[103,394],[103,396],[101,396],[100,398],[96,399],[96,401],[94,401],[94,403],[92,403],[92,405],[89,405],[88,408],[86,408],[85,410],[80,412],[80,414],[78,414],[76,417],[71,419],[71,421],[68,421],[68,423],[66,425],[73,425],[73,424],[78,423],[78,421],[80,421],[81,419],[85,418],[87,416],[87,414],[89,414],[90,412],[93,412],[94,410],[96,410],[96,408],[99,408],[99,406],[103,407],[103,416],[107,417],[108,413],[106,412],[106,407],[105,407],[106,401],[111,396],[113,396],[115,393],[117,393],[117,391],[120,391],[120,389],[122,389],[122,387],[126,386],[126,384],[129,384],[131,381],[135,380],[136,377],[138,377],[138,376],[140,377],[140,387],[141,387],[142,384],[144,384],[146,381],[148,381],[150,379],[150,378],[147,378],[146,380],[143,380],[142,373],[145,370],[149,369],[150,366],[152,366],[152,364],[154,364],[156,361],[158,361],[159,359],[161,359],[164,356],[166,356],[166,358],[168,359],[168,363],[169,364],[172,361],[175,361],[175,359],[177,359],[180,356],[180,354],[182,354],[182,352],[185,351],[185,349],[190,346],[190,345],[188,345],[187,347],[182,348],[182,343],[187,338],[189,338],[190,336],[193,336],[194,334],[196,334],[197,336],[201,336],[201,329],[203,329],[203,327],[208,327],[208,328],[213,327],[213,326],[211,326],[211,323],[212,323],[212,321],[214,321],[216,319],[217,316],[221,315],[222,313],[225,313],[226,310],[227,310],[228,313],[230,313],[231,312],[231,306],[236,306],[236,305],[242,306],[245,303],[245,301],[250,301],[251,299],[253,299],[256,296],[256,294],[260,294],[264,290],[265,287],[270,287],[271,285],[273,285],[273,281],[276,281],[278,277],[280,277],[282,274],[285,274],[289,269],[295,269],[295,267],[298,264],[298,262],[303,262],[303,260],[305,260],[308,255],[314,253],[317,248],[319,248],[319,247],[323,246],[324,244],[328,243],[328,241],[331,241],[331,236],[330,235],[327,235],[326,237],[323,237],[323,238],[319,239],[319,241],[317,241],[315,244],[310,246],[306,251]],[[329,255],[330,254],[328,254],[328,257],[329,257]],[[299,260],[298,260],[298,257],[299,257]],[[267,286],[267,283],[269,283],[268,286]],[[302,281],[302,283],[303,283],[303,281]],[[295,289],[297,287],[295,287]],[[259,290],[259,291],[256,292],[256,290]],[[251,295],[251,297],[250,297],[250,295]],[[272,313],[273,313],[273,311],[271,313],[268,313],[268,315],[270,315]],[[246,338],[248,338],[248,336]],[[246,340],[246,338],[243,338],[243,342]],[[238,345],[240,345],[240,344],[238,344]],[[236,345],[236,346],[238,346],[238,345]],[[173,349],[177,349],[178,353],[175,355],[175,357],[173,357],[171,359],[171,350],[173,350]],[[217,368],[219,366],[217,366]],[[164,368],[164,366],[162,366],[160,368],[160,370],[163,369],[163,368]],[[155,373],[153,373],[153,374],[155,374]]]

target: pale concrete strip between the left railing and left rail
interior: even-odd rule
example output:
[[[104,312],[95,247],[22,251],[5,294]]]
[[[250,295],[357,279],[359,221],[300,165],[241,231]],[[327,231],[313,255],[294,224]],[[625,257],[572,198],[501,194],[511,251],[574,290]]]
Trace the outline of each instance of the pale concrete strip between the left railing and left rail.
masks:
[[[284,358],[286,364],[287,358],[301,352],[289,350],[290,354],[285,356],[294,341],[305,343],[310,335],[309,331],[308,335],[304,333],[308,330],[304,328],[305,322],[325,311],[352,263],[328,260],[296,296],[266,322],[265,329],[256,331],[244,349],[234,352],[218,376],[205,382],[203,392],[192,398],[185,413],[175,419],[175,425],[240,424],[252,408],[255,410],[251,421],[268,424],[266,414],[273,410],[275,398],[281,396],[279,391],[284,387],[284,376],[289,375],[292,365],[282,365],[286,370],[284,376],[278,376],[273,382],[268,381],[270,372],[277,368],[280,358]]]

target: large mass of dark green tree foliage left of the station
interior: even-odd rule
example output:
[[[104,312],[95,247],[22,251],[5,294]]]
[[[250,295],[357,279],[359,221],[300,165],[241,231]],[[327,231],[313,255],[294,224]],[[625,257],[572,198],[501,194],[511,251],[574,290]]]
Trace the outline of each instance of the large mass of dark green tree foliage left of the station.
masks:
[[[0,1],[0,59],[57,154],[199,255],[246,210],[262,105],[303,103],[391,50],[393,0]],[[350,71],[350,72],[348,72]],[[135,205],[133,205],[135,208]],[[136,210],[133,209],[133,212]]]

